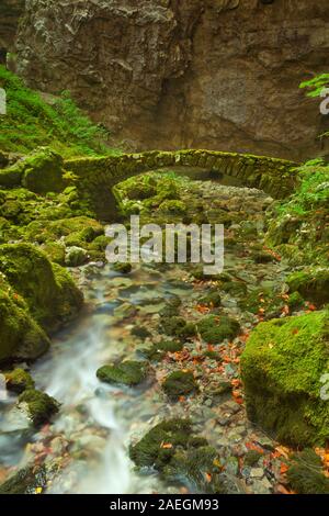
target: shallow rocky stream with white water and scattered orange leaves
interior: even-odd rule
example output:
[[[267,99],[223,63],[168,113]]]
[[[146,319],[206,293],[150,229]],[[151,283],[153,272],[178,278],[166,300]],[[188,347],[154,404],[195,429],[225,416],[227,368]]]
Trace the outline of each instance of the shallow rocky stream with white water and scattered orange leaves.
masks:
[[[205,199],[216,195],[220,200],[222,195],[222,202],[230,210],[240,203],[243,210],[249,210],[254,224],[261,226],[263,207],[269,204],[263,192],[211,182],[206,187],[202,184],[200,188],[207,192]],[[236,223],[236,231],[242,220],[241,216]],[[250,258],[250,237],[246,237],[243,245],[237,248],[230,244],[225,256],[225,271],[235,274],[237,283],[242,282],[252,291],[256,287],[269,288],[284,278],[282,263],[260,265]],[[111,386],[101,383],[95,372],[104,363],[136,359],[136,352],[138,357],[143,339],[134,336],[132,329],[138,325],[156,333],[159,311],[173,296],[182,300],[186,318],[197,319],[197,300],[211,285],[191,279],[186,268],[178,265],[140,265],[131,274],[118,274],[110,266],[90,263],[75,269],[73,274],[84,292],[83,312],[54,338],[50,351],[31,368],[36,388],[58,400],[60,411],[50,424],[33,433],[14,406],[15,396],[9,394],[1,401],[4,410],[0,418],[0,463],[5,476],[16,468],[33,463],[45,468],[47,480],[41,487],[33,485],[31,492],[193,492],[186,482],[166,484],[154,470],[138,472],[127,455],[129,444],[163,418],[191,417],[200,434],[220,451],[231,493],[271,492],[280,464],[275,460],[270,463],[271,474],[266,468],[275,444],[248,422],[239,400],[237,403],[231,394],[225,394],[218,402],[212,394],[219,380],[238,383],[243,335],[257,322],[254,315],[241,311],[237,302],[240,294],[223,292],[223,309],[239,319],[243,338],[219,347],[218,352],[224,357],[220,366],[213,358],[200,360],[206,347],[192,340],[185,345],[185,355],[169,354],[162,363],[152,366],[152,374],[141,386]],[[201,392],[180,403],[169,403],[160,384],[168,372],[186,364],[194,368]],[[243,471],[240,459],[250,449],[250,442],[262,447],[263,461],[258,468]]]

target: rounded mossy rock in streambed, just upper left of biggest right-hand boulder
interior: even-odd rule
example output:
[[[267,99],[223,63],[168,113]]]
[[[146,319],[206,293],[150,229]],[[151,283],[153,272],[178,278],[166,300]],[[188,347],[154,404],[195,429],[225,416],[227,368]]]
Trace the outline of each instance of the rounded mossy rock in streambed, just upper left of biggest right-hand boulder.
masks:
[[[227,315],[207,315],[197,323],[201,337],[208,344],[220,344],[234,339],[240,332],[239,323]]]

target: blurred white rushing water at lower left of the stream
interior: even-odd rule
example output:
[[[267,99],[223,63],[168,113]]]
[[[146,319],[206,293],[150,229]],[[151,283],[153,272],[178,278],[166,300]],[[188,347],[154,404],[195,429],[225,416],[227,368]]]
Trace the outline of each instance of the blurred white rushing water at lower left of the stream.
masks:
[[[98,309],[102,309],[105,303],[102,292],[98,292]],[[55,478],[49,487],[52,493],[63,492],[63,483],[72,474],[76,479],[75,493],[132,494],[151,493],[159,489],[155,475],[139,476],[133,470],[126,450],[132,422],[124,420],[123,414],[117,415],[120,397],[117,401],[115,394],[120,390],[101,384],[95,375],[100,366],[117,355],[111,348],[106,328],[104,315],[84,315],[78,330],[55,341],[52,354],[32,371],[37,386],[61,403],[60,413],[52,425],[55,434],[70,438],[76,430],[70,428],[70,413],[80,405],[83,405],[83,419],[88,420],[88,435],[90,427],[107,430],[106,444],[101,453],[97,455],[97,460],[70,464]],[[100,389],[101,395],[98,395]]]

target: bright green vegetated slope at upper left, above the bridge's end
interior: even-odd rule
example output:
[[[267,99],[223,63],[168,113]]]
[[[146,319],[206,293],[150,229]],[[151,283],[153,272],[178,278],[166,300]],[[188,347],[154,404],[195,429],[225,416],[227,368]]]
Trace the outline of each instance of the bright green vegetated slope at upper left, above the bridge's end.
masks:
[[[0,117],[0,150],[26,154],[49,145],[65,157],[118,154],[106,146],[107,132],[93,124],[68,92],[45,100],[4,66],[0,66],[0,87],[8,102],[8,114]]]

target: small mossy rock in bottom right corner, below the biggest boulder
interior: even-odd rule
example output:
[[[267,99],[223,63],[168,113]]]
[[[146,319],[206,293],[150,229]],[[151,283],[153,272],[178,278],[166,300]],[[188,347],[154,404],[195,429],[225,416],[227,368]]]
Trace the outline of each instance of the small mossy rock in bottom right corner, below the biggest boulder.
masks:
[[[320,458],[311,449],[293,457],[286,476],[298,494],[329,494],[329,479],[322,472]]]

